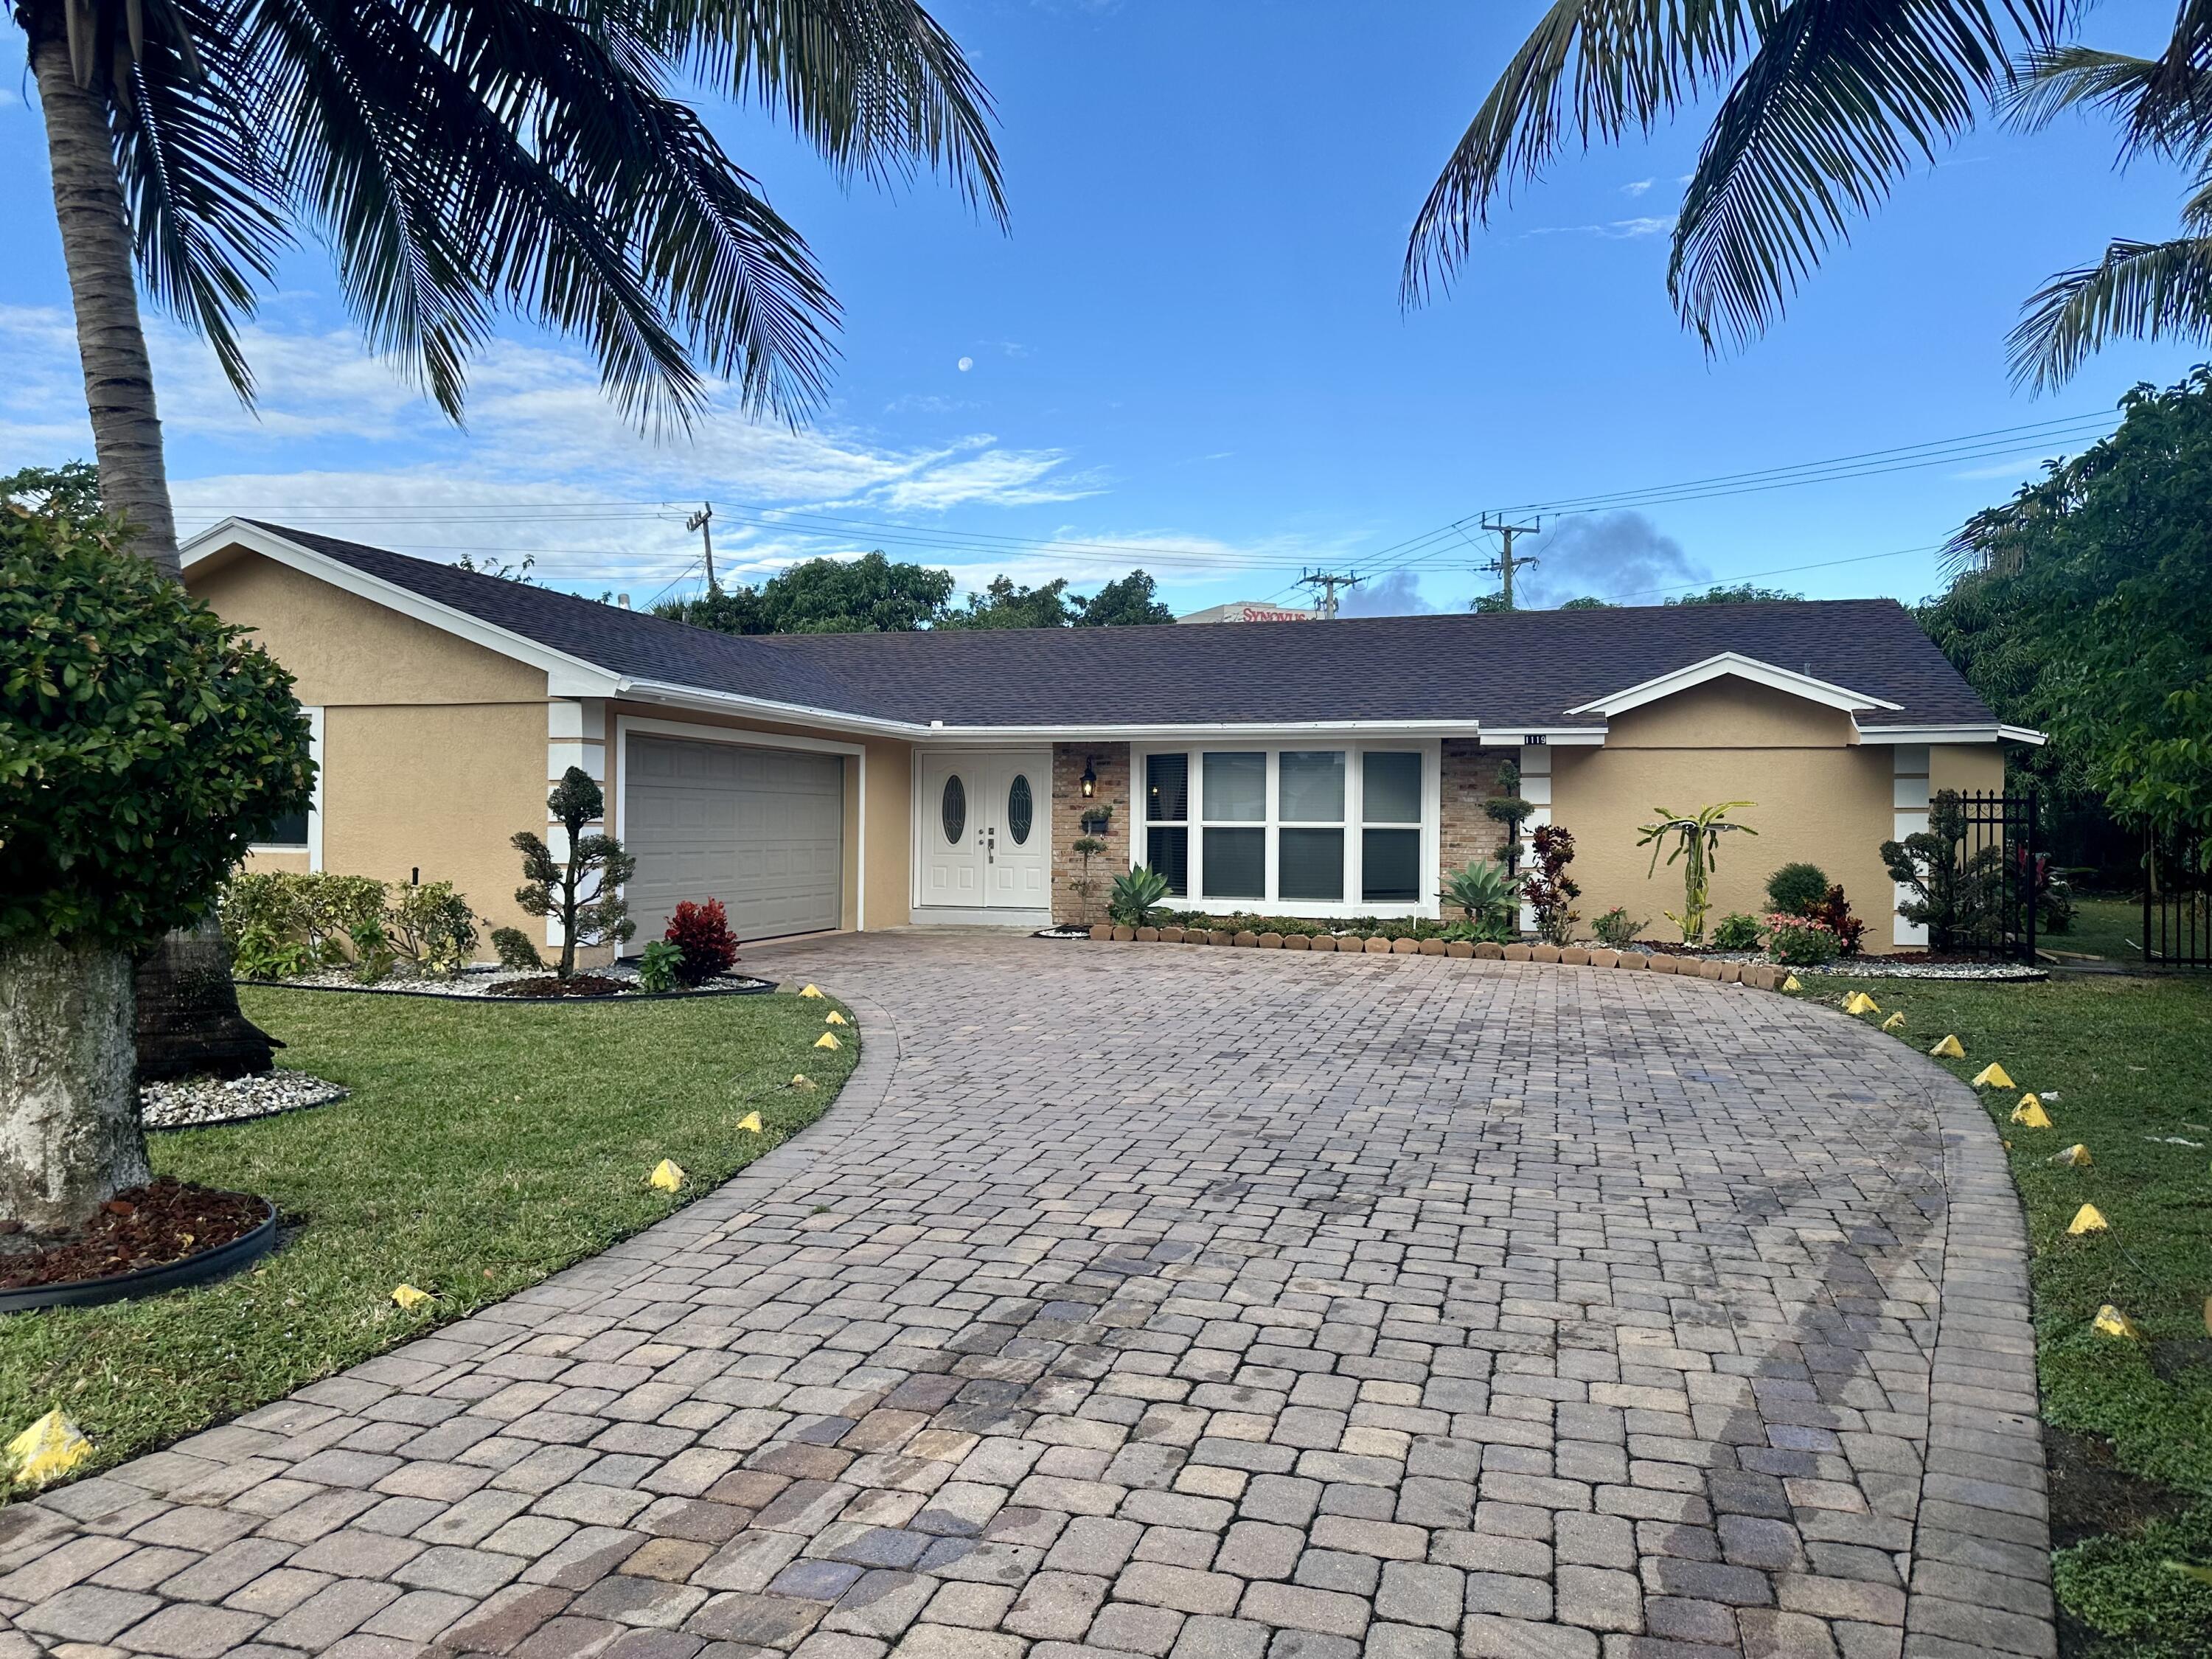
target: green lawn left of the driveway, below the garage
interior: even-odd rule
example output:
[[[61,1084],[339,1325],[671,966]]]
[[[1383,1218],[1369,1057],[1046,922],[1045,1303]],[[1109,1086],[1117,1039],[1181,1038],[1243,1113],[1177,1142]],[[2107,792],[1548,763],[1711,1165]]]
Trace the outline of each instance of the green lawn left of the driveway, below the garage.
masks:
[[[153,1139],[157,1175],[261,1192],[283,1245],[215,1285],[0,1321],[4,1433],[62,1407],[153,1451],[500,1301],[701,1197],[816,1119],[858,1046],[832,1002],[504,1006],[241,989],[334,1106]],[[792,1088],[794,1073],[818,1088]],[[739,1130],[761,1113],[765,1133]],[[690,1177],[646,1186],[659,1159]],[[403,1312],[400,1283],[434,1303]]]

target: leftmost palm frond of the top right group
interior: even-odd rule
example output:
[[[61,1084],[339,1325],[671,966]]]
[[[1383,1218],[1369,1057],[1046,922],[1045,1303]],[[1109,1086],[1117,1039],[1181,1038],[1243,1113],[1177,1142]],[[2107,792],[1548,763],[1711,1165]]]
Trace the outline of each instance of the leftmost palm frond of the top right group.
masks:
[[[1449,285],[1491,208],[1571,139],[1650,128],[1725,80],[1763,0],[1553,0],[1491,86],[1407,241],[1400,299]]]

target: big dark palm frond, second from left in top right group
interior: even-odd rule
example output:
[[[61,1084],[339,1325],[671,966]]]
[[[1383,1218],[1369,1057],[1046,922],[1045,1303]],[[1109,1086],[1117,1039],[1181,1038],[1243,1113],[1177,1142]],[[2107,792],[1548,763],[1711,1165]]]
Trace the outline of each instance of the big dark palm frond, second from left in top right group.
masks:
[[[1708,347],[1772,323],[1851,219],[1882,201],[2055,42],[2068,0],[1790,0],[1705,135],[1668,292]]]

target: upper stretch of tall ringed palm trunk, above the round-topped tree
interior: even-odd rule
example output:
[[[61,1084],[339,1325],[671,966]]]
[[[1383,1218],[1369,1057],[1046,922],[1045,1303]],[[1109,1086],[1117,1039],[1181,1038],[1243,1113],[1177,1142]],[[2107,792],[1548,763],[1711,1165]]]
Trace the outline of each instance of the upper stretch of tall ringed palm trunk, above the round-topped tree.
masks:
[[[161,418],[153,407],[153,367],[131,268],[131,219],[122,179],[115,177],[106,111],[100,97],[77,86],[60,18],[38,7],[29,24],[38,102],[46,113],[53,212],[62,221],[62,261],[77,312],[84,403],[100,458],[100,498],[131,522],[135,551],[177,575],[177,520],[168,507]]]

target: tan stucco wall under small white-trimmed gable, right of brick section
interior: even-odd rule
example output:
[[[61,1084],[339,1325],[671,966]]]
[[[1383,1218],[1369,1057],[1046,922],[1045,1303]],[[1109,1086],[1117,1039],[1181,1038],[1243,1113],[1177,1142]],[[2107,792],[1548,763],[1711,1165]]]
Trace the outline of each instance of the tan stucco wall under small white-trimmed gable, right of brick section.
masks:
[[[1893,759],[1858,745],[1847,714],[1747,681],[1714,681],[1610,723],[1604,748],[1555,748],[1553,823],[1575,832],[1573,876],[1582,883],[1579,933],[1593,916],[1626,905],[1650,916],[1650,938],[1677,938],[1666,911],[1681,909],[1681,865],[1659,858],[1637,827],[1655,807],[1697,812],[1714,801],[1752,801],[1730,814],[1759,836],[1721,838],[1712,918],[1765,914],[1767,876],[1803,858],[1843,883],[1867,920],[1867,949],[1889,947],[1889,874],[1880,843],[1891,834]],[[1708,927],[1710,927],[1708,922]]]

